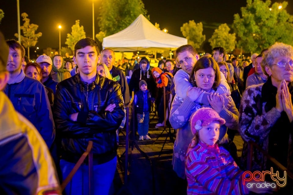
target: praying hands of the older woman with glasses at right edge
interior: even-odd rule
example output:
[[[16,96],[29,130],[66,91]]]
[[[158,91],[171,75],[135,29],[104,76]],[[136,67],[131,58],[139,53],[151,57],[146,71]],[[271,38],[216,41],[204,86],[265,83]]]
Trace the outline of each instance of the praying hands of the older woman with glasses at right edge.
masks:
[[[289,121],[292,122],[293,121],[293,105],[292,105],[291,94],[289,92],[289,88],[285,80],[281,82],[281,88],[282,88],[283,109],[286,112],[289,118]]]

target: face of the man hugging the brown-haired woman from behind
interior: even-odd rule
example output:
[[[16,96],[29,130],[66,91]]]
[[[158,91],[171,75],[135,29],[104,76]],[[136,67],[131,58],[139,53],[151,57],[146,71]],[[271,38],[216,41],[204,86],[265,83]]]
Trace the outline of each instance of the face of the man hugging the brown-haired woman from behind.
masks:
[[[189,75],[192,73],[192,69],[197,62],[198,55],[193,55],[189,51],[183,51],[177,55],[177,61],[180,67]]]

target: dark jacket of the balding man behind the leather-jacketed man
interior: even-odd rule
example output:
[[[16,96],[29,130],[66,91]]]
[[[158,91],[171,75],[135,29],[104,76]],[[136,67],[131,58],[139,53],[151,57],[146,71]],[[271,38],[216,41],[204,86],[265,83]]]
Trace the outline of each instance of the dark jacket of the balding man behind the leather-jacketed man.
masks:
[[[115,67],[112,67],[112,70],[110,71],[113,80],[118,82],[121,85],[121,92],[123,96],[123,100],[125,105],[127,105],[130,102],[130,95],[129,95],[129,87],[126,80],[126,77],[122,70],[115,69]]]

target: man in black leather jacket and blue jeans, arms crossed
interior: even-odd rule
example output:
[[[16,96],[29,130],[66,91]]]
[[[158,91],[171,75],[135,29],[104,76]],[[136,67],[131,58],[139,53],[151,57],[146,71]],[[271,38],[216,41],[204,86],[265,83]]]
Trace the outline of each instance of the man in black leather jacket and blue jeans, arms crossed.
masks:
[[[117,163],[116,129],[125,114],[121,86],[96,73],[98,55],[97,42],[92,38],[75,44],[73,60],[79,73],[57,84],[54,116],[63,179],[92,141],[94,191],[108,194]],[[116,107],[106,111],[113,104]],[[89,194],[88,170],[86,161],[67,185],[67,194]]]

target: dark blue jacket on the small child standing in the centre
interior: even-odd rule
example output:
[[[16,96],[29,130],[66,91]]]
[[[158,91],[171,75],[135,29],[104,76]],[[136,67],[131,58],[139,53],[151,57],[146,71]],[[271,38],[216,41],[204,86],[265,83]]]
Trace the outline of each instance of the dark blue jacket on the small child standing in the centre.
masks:
[[[146,92],[143,92],[142,90],[139,90],[136,92],[134,96],[134,108],[136,113],[143,114],[143,112],[150,112],[151,109],[151,97],[149,90],[146,90]]]

